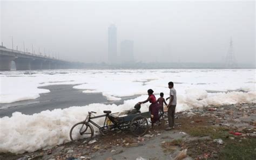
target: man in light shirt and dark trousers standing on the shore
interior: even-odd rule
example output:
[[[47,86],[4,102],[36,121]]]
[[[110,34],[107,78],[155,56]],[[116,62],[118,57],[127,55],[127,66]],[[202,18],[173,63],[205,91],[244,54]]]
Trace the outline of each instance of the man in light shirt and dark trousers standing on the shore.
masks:
[[[165,130],[171,130],[174,128],[174,114],[175,114],[175,108],[177,105],[177,96],[176,96],[176,89],[174,89],[173,82],[168,83],[168,87],[170,88],[170,100],[169,104],[167,106],[168,108],[168,127],[165,128]]]

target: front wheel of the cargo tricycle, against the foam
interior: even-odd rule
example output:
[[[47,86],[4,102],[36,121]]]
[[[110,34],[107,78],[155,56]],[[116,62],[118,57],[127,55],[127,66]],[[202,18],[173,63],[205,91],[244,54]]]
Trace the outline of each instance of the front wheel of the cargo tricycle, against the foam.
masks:
[[[70,140],[75,143],[89,142],[94,130],[89,123],[79,122],[70,129]],[[83,139],[83,140],[82,140]]]

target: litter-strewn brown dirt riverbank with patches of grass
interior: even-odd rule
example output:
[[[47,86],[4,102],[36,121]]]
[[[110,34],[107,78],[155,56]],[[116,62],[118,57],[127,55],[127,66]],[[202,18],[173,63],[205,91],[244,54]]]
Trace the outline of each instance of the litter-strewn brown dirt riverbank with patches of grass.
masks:
[[[92,144],[65,143],[0,159],[255,159],[255,103],[208,106],[176,113],[174,129],[167,116],[143,137],[113,130],[93,137]]]

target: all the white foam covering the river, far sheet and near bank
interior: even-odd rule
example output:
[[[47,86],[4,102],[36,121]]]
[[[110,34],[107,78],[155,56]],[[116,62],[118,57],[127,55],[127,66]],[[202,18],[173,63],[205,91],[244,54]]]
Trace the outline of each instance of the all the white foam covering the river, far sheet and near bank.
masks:
[[[97,115],[103,110],[112,113],[132,109],[147,99],[147,89],[153,89],[159,98],[163,92],[169,96],[167,83],[174,81],[177,90],[176,112],[208,105],[230,105],[256,102],[255,69],[140,69],[140,70],[68,70],[1,72],[0,103],[38,98],[48,85],[76,85],[83,93],[102,93],[109,101],[120,100],[123,96],[141,95],[124,101],[123,105],[91,104],[84,107],[46,110],[24,115],[14,113],[0,119],[0,152],[22,153],[52,147],[70,141],[69,131],[73,124],[83,121],[87,112]],[[246,92],[227,92],[239,91]],[[207,93],[206,91],[223,91]],[[85,94],[86,96],[86,94]],[[142,112],[150,103],[142,105]],[[96,120],[103,124],[103,119]]]

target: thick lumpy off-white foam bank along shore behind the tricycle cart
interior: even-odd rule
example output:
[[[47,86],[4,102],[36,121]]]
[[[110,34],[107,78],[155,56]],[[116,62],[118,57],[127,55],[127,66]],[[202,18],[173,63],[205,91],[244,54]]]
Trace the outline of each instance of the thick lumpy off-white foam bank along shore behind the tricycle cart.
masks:
[[[123,112],[123,110],[133,109],[134,103],[137,103],[136,99],[125,101],[123,105],[119,106],[94,103],[84,107],[45,110],[33,115],[15,112],[11,117],[0,119],[0,152],[32,152],[69,142],[71,127],[75,123],[83,121],[87,112],[97,112],[95,115],[104,114],[103,110],[111,110],[112,113]],[[147,111],[147,107],[145,105],[142,111]],[[93,121],[103,125],[104,118]]]

